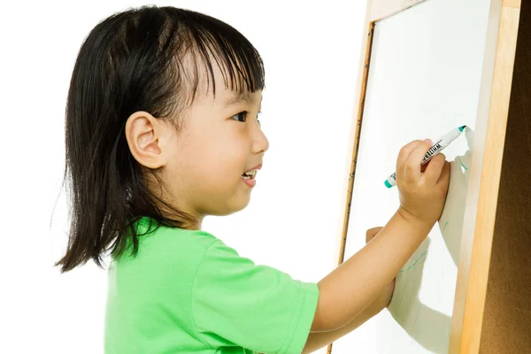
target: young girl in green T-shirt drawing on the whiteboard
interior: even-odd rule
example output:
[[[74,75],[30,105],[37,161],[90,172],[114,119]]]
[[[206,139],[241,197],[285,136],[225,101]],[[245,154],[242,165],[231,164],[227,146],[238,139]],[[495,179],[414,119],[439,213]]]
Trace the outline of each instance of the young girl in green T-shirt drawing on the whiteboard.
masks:
[[[429,141],[400,151],[389,223],[318,283],[256,266],[201,230],[206,215],[250,202],[269,146],[264,87],[250,42],[197,12],[116,13],[82,44],[65,119],[72,224],[57,266],[101,266],[112,250],[105,353],[307,353],[389,304],[443,210],[448,163],[419,168]]]

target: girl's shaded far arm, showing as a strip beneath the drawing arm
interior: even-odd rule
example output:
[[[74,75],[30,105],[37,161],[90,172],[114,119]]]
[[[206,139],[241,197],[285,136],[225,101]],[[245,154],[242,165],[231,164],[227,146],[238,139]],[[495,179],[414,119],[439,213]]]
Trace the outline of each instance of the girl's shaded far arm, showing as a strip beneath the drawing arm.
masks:
[[[389,284],[381,296],[378,296],[373,303],[369,304],[363,312],[352,319],[347,326],[331,332],[311,332],[308,336],[306,344],[304,345],[303,354],[312,353],[313,351],[319,350],[331,342],[335,342],[335,340],[341,338],[343,335],[347,335],[354,329],[363,325],[367,319],[370,319],[374,315],[380,313],[381,310],[383,310],[389,304],[394,288],[394,284]]]

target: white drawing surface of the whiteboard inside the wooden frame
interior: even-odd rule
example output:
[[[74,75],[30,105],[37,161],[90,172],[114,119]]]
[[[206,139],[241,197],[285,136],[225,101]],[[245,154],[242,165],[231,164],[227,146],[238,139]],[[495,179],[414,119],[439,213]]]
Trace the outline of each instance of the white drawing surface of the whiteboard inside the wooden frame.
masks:
[[[398,273],[389,311],[336,341],[333,354],[448,352],[489,5],[427,0],[375,24],[345,259],[399,206],[396,187],[383,182],[400,148],[469,128],[443,151],[451,167],[443,215]]]

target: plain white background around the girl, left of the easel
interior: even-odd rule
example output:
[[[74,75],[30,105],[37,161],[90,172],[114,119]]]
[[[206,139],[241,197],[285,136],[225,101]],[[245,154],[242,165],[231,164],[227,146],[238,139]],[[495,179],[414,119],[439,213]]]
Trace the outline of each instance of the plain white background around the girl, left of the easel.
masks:
[[[52,266],[67,233],[60,190],[65,99],[89,31],[113,12],[142,4],[150,3],[2,6],[2,353],[103,352],[106,271],[90,263],[60,274]],[[208,217],[204,230],[258,264],[319,281],[337,261],[365,1],[154,4],[226,21],[248,37],[266,65],[261,121],[270,149],[257,187],[247,209]]]

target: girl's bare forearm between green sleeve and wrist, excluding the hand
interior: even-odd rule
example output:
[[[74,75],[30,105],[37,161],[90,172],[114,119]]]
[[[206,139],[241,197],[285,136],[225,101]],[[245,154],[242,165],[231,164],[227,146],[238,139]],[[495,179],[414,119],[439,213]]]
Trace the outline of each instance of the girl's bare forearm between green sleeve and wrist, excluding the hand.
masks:
[[[396,212],[372,242],[319,281],[312,331],[342,328],[363,312],[393,281],[430,229]]]

